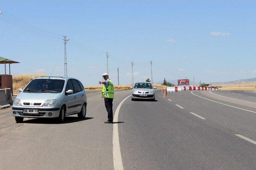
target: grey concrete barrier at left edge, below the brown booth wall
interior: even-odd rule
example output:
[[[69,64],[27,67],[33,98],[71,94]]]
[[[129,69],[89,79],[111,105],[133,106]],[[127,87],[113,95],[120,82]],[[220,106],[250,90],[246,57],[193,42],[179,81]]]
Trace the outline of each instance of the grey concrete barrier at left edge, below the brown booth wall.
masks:
[[[10,102],[10,104],[8,102]],[[12,103],[11,89],[0,89],[0,109],[11,107]]]

